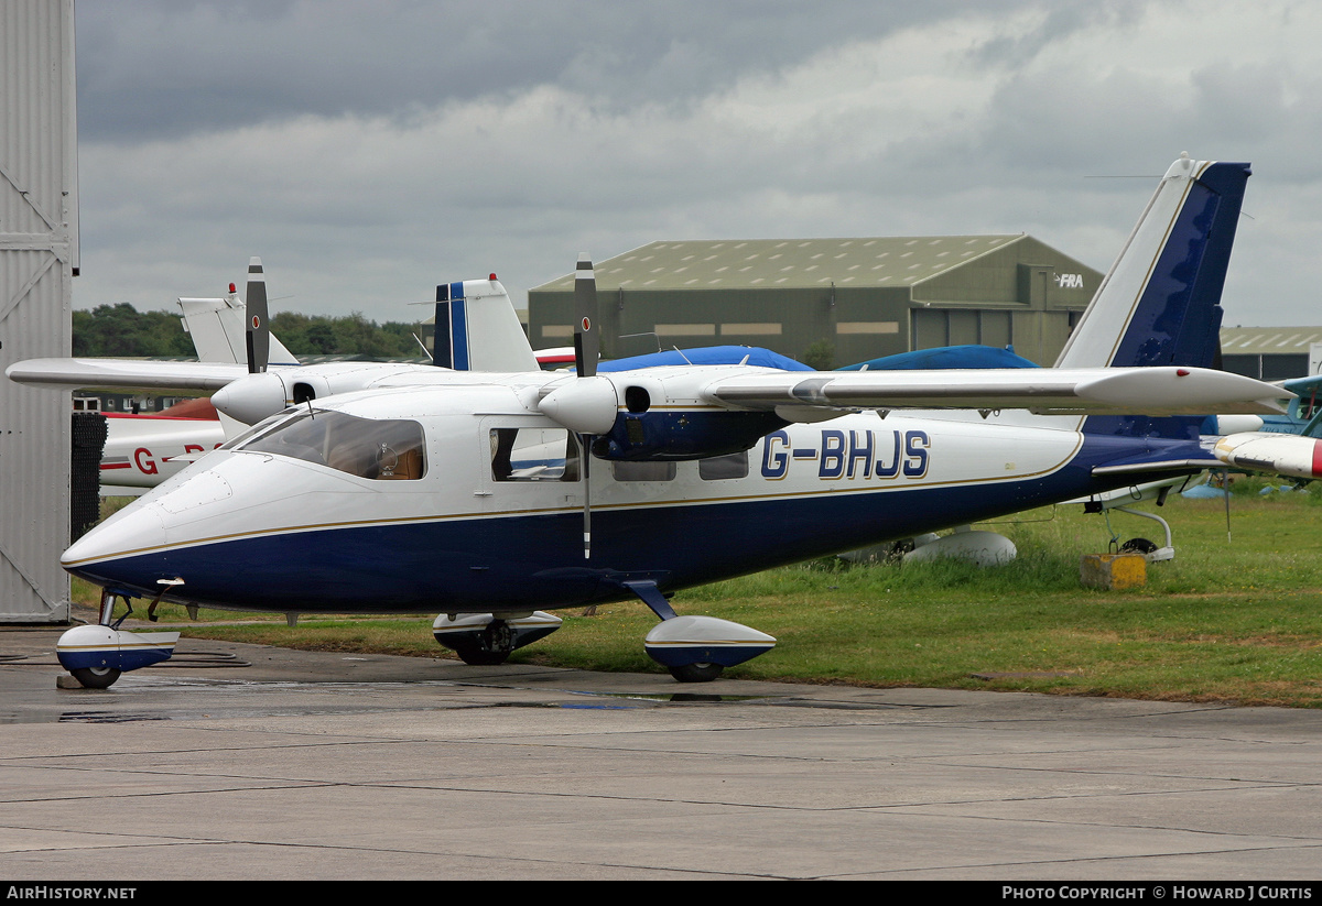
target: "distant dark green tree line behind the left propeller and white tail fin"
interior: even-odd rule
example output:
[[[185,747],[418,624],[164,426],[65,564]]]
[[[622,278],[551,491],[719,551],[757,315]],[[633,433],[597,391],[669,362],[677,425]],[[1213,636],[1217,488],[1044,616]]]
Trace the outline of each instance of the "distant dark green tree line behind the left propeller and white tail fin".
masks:
[[[373,359],[415,359],[423,355],[414,339],[418,325],[387,321],[378,325],[360,312],[344,317],[280,312],[271,333],[286,349],[304,355],[360,355]],[[139,312],[128,302],[74,312],[74,355],[139,358],[192,357],[193,339],[178,314]]]

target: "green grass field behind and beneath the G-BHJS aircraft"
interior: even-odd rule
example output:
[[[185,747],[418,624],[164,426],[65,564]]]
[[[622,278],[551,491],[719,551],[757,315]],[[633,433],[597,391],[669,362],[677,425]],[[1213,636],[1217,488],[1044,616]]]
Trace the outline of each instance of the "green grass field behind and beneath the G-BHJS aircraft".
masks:
[[[1110,534],[1104,516],[1062,506],[978,526],[1018,545],[1019,557],[1005,567],[820,560],[681,592],[673,605],[779,639],[769,654],[727,671],[735,678],[1322,707],[1322,489],[1232,501],[1229,541],[1222,502],[1142,505],[1171,523],[1177,556],[1150,564],[1140,589],[1080,586],[1080,557],[1105,552]],[[1161,540],[1150,520],[1112,514],[1110,526],[1121,539]],[[79,593],[87,600],[94,590]],[[161,613],[186,621],[182,609]],[[201,615],[213,623],[193,623],[185,635],[442,652],[431,617],[303,617],[291,630],[279,615]],[[656,625],[642,604],[559,615],[559,633],[512,662],[664,672],[642,651]],[[235,619],[246,622],[214,622]]]

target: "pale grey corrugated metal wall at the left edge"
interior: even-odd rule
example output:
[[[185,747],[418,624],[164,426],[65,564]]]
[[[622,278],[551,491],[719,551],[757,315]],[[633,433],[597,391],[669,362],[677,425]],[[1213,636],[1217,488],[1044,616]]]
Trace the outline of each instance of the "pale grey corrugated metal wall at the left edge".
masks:
[[[0,370],[69,355],[78,267],[73,0],[0,3]],[[0,379],[0,622],[69,615],[69,394]]]

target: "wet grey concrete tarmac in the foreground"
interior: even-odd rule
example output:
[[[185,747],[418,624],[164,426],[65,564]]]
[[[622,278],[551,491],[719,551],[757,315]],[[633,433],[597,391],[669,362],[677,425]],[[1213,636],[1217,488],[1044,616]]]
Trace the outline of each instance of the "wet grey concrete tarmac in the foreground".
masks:
[[[0,627],[0,877],[1315,880],[1322,713]]]

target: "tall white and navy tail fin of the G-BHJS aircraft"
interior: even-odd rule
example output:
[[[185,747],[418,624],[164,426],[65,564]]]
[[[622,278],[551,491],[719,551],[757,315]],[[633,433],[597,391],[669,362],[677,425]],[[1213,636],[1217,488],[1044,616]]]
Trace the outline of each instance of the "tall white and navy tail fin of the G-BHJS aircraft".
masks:
[[[1058,367],[1215,367],[1222,288],[1248,164],[1177,160],[1144,210]],[[1196,417],[1093,416],[1089,433],[1196,438]]]

